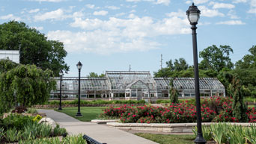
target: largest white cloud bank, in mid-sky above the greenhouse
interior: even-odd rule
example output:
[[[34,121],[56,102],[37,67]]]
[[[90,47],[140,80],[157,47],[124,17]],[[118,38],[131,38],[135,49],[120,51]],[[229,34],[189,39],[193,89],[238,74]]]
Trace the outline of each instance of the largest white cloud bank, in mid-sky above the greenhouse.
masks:
[[[154,37],[190,34],[186,17],[170,16],[162,20],[132,14],[128,19],[110,17],[107,20],[75,18],[70,26],[79,32],[50,31],[47,37],[64,42],[67,51],[87,51],[112,54],[125,51],[148,51],[161,46]]]

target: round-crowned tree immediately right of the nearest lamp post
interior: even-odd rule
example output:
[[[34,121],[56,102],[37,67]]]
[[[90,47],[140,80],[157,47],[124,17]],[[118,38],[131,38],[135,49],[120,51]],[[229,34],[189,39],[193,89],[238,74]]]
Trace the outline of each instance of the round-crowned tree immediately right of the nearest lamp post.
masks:
[[[216,72],[221,71],[223,68],[232,69],[234,64],[229,57],[233,49],[230,46],[209,46],[204,51],[199,52],[199,57],[203,58],[199,63],[200,69],[213,69]]]

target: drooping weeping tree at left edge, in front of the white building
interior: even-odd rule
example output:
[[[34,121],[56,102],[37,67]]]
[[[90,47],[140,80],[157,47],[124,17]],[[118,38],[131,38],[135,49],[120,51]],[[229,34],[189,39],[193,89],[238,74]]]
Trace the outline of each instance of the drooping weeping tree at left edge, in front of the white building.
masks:
[[[42,104],[55,89],[51,70],[34,65],[19,65],[0,75],[0,113],[18,102],[23,106]]]

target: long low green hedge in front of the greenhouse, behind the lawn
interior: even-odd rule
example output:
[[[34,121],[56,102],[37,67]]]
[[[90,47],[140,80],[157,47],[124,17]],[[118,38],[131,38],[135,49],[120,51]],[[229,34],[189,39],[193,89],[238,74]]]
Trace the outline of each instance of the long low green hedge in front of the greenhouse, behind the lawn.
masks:
[[[60,101],[48,101],[46,104],[59,104]],[[85,101],[81,100],[80,104],[145,104],[144,100],[113,100],[113,101],[103,101],[103,100],[94,100],[94,101]],[[61,104],[78,104],[78,100],[73,101],[61,101]]]

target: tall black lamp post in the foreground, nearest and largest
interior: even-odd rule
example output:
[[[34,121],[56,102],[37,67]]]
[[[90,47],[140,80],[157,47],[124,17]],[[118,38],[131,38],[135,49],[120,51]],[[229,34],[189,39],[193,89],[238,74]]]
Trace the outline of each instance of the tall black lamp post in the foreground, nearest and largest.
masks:
[[[198,7],[192,3],[189,10],[186,10],[186,15],[188,16],[190,25],[192,25],[192,39],[193,39],[193,55],[194,55],[194,72],[195,72],[195,101],[196,101],[196,115],[197,115],[197,125],[198,125],[198,136],[195,138],[195,143],[203,143],[204,140],[201,126],[201,105],[200,105],[200,91],[199,91],[199,78],[198,78],[198,46],[196,40],[196,25],[198,24],[198,19],[200,17],[200,10]]]

